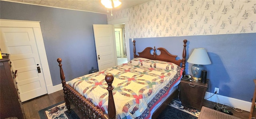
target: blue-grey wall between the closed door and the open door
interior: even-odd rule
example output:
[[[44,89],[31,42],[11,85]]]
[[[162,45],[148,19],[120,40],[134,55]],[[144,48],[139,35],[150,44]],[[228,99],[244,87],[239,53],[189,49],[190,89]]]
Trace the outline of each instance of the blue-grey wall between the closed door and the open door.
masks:
[[[53,85],[61,83],[57,58],[66,81],[98,67],[92,24],[107,24],[106,14],[0,1],[0,18],[40,21]]]

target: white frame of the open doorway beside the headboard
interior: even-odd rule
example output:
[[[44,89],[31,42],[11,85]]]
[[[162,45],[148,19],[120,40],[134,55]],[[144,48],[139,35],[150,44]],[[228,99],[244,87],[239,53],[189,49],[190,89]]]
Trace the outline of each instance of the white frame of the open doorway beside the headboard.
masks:
[[[130,61],[131,56],[130,56],[130,40],[129,40],[129,32],[128,32],[128,17],[121,18],[121,19],[116,19],[116,20],[110,20],[108,21],[108,24],[125,24],[125,39],[126,39],[126,55],[127,55],[127,61]]]

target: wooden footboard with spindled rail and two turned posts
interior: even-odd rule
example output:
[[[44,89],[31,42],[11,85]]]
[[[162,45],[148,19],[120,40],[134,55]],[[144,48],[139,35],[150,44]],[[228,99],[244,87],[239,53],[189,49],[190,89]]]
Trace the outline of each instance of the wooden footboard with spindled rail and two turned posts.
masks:
[[[70,111],[70,101],[74,104],[76,108],[79,109],[86,117],[86,119],[114,119],[116,117],[116,107],[114,104],[112,90],[112,82],[114,80],[113,75],[108,74],[105,77],[106,82],[108,83],[108,115],[104,114],[101,109],[98,109],[93,103],[91,103],[88,99],[86,99],[83,95],[78,93],[75,89],[73,89],[70,85],[66,84],[65,75],[62,69],[62,59],[57,59],[60,67],[60,78],[64,91],[64,99],[66,103],[66,107],[68,111]]]

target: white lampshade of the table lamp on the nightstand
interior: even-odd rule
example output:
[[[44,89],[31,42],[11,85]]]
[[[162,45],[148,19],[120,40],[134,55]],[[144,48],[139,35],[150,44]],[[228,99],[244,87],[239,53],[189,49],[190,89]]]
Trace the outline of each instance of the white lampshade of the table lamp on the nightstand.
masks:
[[[199,65],[207,65],[212,63],[204,48],[195,48],[188,58],[188,62]]]

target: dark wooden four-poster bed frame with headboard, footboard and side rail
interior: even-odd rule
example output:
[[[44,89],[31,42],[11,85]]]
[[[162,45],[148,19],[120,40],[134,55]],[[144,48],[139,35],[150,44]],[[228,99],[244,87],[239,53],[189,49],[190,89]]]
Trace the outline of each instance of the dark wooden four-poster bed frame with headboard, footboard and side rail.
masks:
[[[177,65],[180,65],[182,63],[181,67],[184,68],[183,74],[185,74],[185,63],[186,63],[186,43],[187,40],[183,40],[183,52],[182,52],[182,59],[176,60],[175,55],[170,54],[166,49],[164,48],[158,48],[157,50],[160,50],[161,54],[158,56],[156,55],[156,48],[145,48],[142,52],[139,52],[139,55],[136,55],[136,48],[135,48],[135,40],[133,41],[134,45],[134,58],[147,58],[152,60],[160,60],[160,61],[168,61],[175,63]],[[154,50],[153,55],[150,54],[150,51]],[[64,100],[66,103],[66,107],[68,111],[70,111],[70,101],[74,104],[76,108],[78,108],[79,111],[83,113],[86,119],[115,119],[116,117],[116,108],[114,103],[114,98],[112,94],[112,90],[114,87],[112,87],[112,82],[114,80],[113,75],[108,74],[105,77],[106,82],[108,83],[108,115],[104,114],[104,112],[101,109],[98,109],[93,103],[91,103],[88,99],[83,97],[80,93],[78,93],[75,89],[73,89],[70,85],[66,84],[65,81],[65,75],[62,69],[62,59],[57,59],[60,67],[60,79],[64,91]],[[165,107],[170,103],[171,99],[173,99],[175,96],[178,95],[178,91],[174,91],[165,101],[160,105],[158,109],[153,113],[152,119],[156,119],[156,117],[165,109]]]

